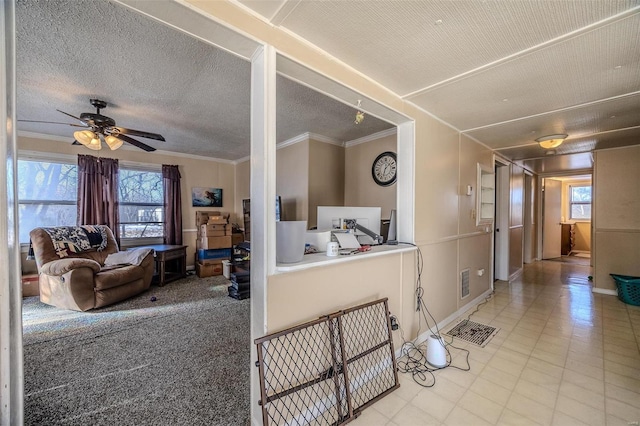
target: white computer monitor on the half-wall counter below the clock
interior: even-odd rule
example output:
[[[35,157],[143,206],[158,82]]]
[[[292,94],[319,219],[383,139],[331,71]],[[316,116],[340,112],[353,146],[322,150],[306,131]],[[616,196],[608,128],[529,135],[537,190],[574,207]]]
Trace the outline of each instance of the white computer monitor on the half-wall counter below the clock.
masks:
[[[369,229],[380,234],[381,207],[338,207],[338,206],[318,206],[318,230],[327,231],[330,229],[340,229],[348,224],[352,219]],[[360,230],[356,230],[356,236],[366,236]]]

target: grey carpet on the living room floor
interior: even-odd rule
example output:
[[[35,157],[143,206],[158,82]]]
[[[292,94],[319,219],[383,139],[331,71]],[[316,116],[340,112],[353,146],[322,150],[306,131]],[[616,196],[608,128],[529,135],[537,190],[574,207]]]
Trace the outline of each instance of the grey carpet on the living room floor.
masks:
[[[89,312],[24,299],[25,424],[248,425],[249,299],[227,285],[191,276]]]

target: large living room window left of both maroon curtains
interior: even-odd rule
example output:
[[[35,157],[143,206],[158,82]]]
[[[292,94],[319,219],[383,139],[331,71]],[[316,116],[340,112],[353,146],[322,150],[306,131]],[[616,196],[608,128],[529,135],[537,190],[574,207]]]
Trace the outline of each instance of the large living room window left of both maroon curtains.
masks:
[[[74,226],[78,167],[71,163],[18,160],[19,241],[39,226]]]

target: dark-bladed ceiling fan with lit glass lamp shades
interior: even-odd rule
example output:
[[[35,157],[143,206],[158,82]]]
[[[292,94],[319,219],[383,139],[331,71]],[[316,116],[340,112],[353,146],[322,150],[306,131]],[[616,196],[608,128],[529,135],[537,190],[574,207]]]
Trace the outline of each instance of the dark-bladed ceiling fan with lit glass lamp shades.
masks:
[[[116,122],[113,118],[107,117],[106,115],[100,114],[100,110],[107,107],[107,102],[102,101],[100,99],[89,99],[91,105],[96,108],[95,113],[91,112],[83,112],[80,114],[80,117],[76,117],[67,112],[60,111],[56,109],[56,111],[61,112],[65,115],[68,115],[71,118],[78,120],[80,124],[70,124],[70,123],[58,123],[54,121],[38,121],[38,120],[19,120],[24,122],[31,123],[49,123],[49,124],[66,124],[68,126],[73,127],[87,127],[89,130],[78,130],[73,132],[73,137],[75,141],[74,145],[82,144],[89,149],[93,149],[99,151],[102,148],[102,143],[106,143],[107,146],[111,150],[116,150],[122,146],[124,142],[127,142],[133,146],[136,146],[145,151],[151,152],[156,149],[152,146],[149,146],[145,143],[142,143],[132,137],[128,136],[138,136],[147,139],[155,139],[158,141],[164,141],[164,137],[157,133],[149,133],[143,132],[141,130],[133,130],[127,129],[125,127],[117,127]]]

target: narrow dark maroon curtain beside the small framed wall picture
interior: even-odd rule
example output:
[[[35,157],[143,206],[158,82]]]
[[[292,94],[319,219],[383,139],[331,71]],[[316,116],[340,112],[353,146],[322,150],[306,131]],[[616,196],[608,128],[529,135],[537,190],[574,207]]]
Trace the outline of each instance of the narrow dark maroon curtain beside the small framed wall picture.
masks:
[[[164,243],[182,244],[182,196],[178,166],[162,165],[164,188]]]

